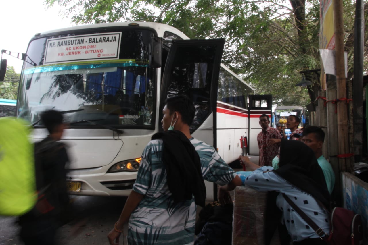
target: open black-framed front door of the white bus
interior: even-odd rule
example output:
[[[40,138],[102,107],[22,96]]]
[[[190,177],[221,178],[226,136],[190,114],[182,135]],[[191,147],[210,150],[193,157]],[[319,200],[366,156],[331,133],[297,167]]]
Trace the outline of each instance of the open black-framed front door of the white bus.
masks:
[[[159,125],[167,97],[187,95],[196,109],[190,126],[193,137],[216,149],[217,82],[224,39],[175,40],[170,47],[162,78]],[[162,127],[160,127],[162,130]],[[205,181],[207,199],[215,200],[217,188]]]

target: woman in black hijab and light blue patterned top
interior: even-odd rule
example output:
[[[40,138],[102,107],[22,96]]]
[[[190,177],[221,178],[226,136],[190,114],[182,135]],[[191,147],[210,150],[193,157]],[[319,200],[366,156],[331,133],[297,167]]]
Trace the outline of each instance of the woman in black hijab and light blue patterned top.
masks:
[[[289,197],[326,234],[329,233],[329,192],[321,167],[313,151],[299,141],[282,140],[280,146],[280,168],[261,167],[249,175],[245,185],[259,191],[276,191],[279,195],[268,205],[281,210],[281,223],[285,224],[294,245],[325,245],[325,241],[309,227],[307,222],[290,206],[283,197]],[[271,170],[271,171],[270,171]],[[279,216],[280,217],[280,216]],[[277,214],[273,219],[278,219]],[[269,219],[268,219],[269,221]],[[266,221],[266,227],[269,224]],[[265,234],[266,237],[272,234]]]

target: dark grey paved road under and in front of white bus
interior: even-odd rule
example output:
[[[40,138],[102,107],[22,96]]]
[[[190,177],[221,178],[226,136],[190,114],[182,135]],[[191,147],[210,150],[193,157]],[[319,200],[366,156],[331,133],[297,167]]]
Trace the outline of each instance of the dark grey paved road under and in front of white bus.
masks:
[[[258,156],[251,156],[251,161],[258,164]],[[69,223],[61,227],[58,234],[59,244],[108,245],[106,236],[117,221],[126,198],[98,196],[71,196],[71,198],[74,200],[74,211],[82,214],[86,219],[82,220],[84,224],[82,226]],[[23,245],[18,238],[20,229],[15,221],[14,217],[0,216],[0,245]],[[80,228],[72,235],[76,227]],[[127,234],[126,229],[125,226],[125,234]]]

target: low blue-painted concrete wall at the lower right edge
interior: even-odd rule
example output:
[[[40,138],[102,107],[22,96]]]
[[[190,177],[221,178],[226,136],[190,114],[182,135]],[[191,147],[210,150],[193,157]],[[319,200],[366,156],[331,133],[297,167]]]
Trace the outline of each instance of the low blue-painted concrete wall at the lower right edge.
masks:
[[[353,174],[342,173],[343,202],[346,209],[361,215],[364,244],[368,244],[368,183]]]

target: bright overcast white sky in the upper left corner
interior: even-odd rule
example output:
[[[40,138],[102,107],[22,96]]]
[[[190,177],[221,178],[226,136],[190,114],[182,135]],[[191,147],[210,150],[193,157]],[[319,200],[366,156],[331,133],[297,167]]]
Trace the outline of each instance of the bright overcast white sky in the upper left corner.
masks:
[[[72,26],[59,15],[59,6],[47,9],[44,0],[0,0],[0,50],[25,53],[33,35],[52,29]],[[8,65],[20,73],[22,61],[3,54]]]

